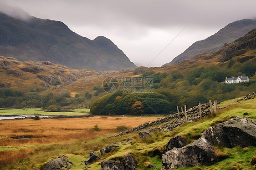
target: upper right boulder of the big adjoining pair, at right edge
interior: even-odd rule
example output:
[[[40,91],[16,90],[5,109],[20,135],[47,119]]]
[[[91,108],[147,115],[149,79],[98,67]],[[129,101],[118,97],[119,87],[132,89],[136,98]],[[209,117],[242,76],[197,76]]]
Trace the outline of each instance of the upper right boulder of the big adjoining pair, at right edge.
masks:
[[[237,116],[206,129],[202,137],[228,148],[256,146],[256,122]]]

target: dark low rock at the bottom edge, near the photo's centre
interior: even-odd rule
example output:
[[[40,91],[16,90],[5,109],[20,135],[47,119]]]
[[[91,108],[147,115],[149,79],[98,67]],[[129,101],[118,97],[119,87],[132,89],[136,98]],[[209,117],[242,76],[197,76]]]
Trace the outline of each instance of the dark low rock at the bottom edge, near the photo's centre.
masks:
[[[118,160],[105,160],[101,162],[101,170],[137,170],[137,161],[133,155],[124,155]]]

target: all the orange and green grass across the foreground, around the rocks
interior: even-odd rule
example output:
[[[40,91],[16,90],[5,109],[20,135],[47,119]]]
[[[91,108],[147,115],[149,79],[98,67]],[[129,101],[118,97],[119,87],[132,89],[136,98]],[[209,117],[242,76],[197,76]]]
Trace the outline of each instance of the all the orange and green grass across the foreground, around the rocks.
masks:
[[[176,135],[186,137],[187,143],[195,140],[195,136],[202,133],[208,127],[218,122],[229,120],[232,117],[241,116],[256,119],[256,98],[236,103],[236,100],[223,102],[228,103],[226,109],[219,110],[216,114],[207,118],[194,122],[186,123],[172,132],[154,132],[152,138],[142,140],[138,136],[138,132],[118,137],[109,137],[117,134],[116,127],[118,125],[126,125],[129,127],[141,124],[157,118],[152,117],[92,117],[76,118],[63,120],[3,120],[0,121],[1,140],[9,140],[13,135],[37,134],[25,143],[16,142],[19,140],[11,139],[11,142],[2,143],[0,147],[0,167],[6,170],[28,170],[32,168],[40,168],[51,158],[67,154],[76,166],[71,170],[84,170],[83,161],[88,158],[90,150],[95,150],[100,155],[100,149],[111,143],[119,143],[120,147],[112,150],[110,153],[101,156],[102,160],[114,159],[128,153],[133,153],[138,160],[138,170],[149,170],[146,166],[149,163],[156,165],[156,168],[150,170],[161,170],[162,160],[159,156],[151,157],[154,148],[163,148],[170,138]],[[244,113],[247,113],[244,115]],[[92,120],[93,119],[93,120]],[[150,120],[150,121],[151,121]],[[52,122],[51,122],[52,121]],[[100,122],[100,123],[99,123]],[[13,124],[17,127],[12,127]],[[102,131],[96,132],[91,130],[94,125],[102,128]],[[83,130],[86,128],[86,130]],[[55,130],[56,129],[56,130]],[[27,131],[26,130],[32,130]],[[76,131],[77,133],[73,133]],[[5,132],[6,135],[3,135]],[[81,132],[81,133],[80,133]],[[69,134],[69,135],[68,135]],[[40,137],[41,136],[41,137]],[[45,136],[45,137],[44,137]],[[47,137],[46,137],[47,136]],[[77,137],[76,137],[77,136]],[[33,140],[34,138],[34,140]],[[54,139],[55,138],[55,139]],[[76,139],[72,141],[72,139]],[[44,139],[44,140],[39,140]],[[133,139],[132,144],[125,141]],[[25,141],[26,139],[24,139]],[[20,140],[22,141],[22,140]],[[256,155],[256,147],[240,148],[215,148],[216,152],[225,153],[227,159],[222,160],[211,166],[196,166],[190,168],[179,167],[179,170],[253,170],[250,164],[253,155]],[[100,161],[102,161],[100,160]],[[89,170],[100,170],[100,161],[93,163],[87,167]]]

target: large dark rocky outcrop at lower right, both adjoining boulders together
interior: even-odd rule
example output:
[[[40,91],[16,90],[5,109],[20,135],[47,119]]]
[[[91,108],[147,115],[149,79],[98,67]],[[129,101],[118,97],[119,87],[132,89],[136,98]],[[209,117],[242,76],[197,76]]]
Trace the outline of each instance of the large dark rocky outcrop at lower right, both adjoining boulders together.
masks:
[[[217,161],[214,154],[215,145],[230,148],[256,146],[256,122],[237,116],[206,129],[200,139],[182,148],[174,147],[167,151],[162,156],[162,170],[179,166],[212,165]]]

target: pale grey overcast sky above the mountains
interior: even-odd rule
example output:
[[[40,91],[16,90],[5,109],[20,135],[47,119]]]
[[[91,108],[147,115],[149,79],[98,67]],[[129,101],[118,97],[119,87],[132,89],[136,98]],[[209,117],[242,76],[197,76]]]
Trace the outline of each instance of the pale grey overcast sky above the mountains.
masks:
[[[256,19],[256,0],[0,2],[20,7],[38,18],[60,20],[77,34],[91,40],[99,35],[105,36],[123,50],[137,66],[161,66],[169,63],[195,41],[215,34],[230,22],[245,18]],[[158,55],[168,44],[169,46]]]

